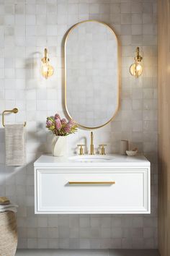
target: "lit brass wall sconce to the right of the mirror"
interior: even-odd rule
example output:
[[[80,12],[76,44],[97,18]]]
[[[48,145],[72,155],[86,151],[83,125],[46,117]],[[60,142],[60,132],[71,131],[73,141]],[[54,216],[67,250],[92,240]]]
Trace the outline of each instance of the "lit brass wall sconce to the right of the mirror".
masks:
[[[136,48],[136,56],[134,59],[135,62],[130,66],[130,74],[138,78],[143,72],[143,67],[141,65],[143,57],[139,54],[139,47]]]

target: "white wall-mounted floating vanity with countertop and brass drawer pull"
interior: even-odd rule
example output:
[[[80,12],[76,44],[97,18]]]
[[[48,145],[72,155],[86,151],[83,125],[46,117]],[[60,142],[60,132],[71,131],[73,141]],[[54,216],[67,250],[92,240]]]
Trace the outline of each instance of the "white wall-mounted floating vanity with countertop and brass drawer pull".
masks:
[[[150,162],[143,156],[41,155],[35,167],[35,213],[150,213]]]

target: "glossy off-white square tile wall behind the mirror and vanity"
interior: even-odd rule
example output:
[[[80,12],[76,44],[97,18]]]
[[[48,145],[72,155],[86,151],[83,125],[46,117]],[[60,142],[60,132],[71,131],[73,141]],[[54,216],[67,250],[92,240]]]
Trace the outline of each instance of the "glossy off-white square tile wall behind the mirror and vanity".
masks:
[[[143,151],[152,163],[151,215],[35,216],[33,161],[48,150],[46,116],[65,114],[63,37],[82,20],[108,23],[121,45],[120,110],[114,121],[94,131],[95,147],[119,152],[120,140]],[[19,247],[157,247],[157,35],[156,0],[0,0],[0,109],[17,107],[6,122],[27,121],[27,166],[4,165],[4,128],[0,129],[0,194],[19,205]],[[55,74],[45,80],[40,59],[45,46]],[[136,46],[143,51],[143,75],[129,73]],[[90,131],[69,137],[70,151]]]

